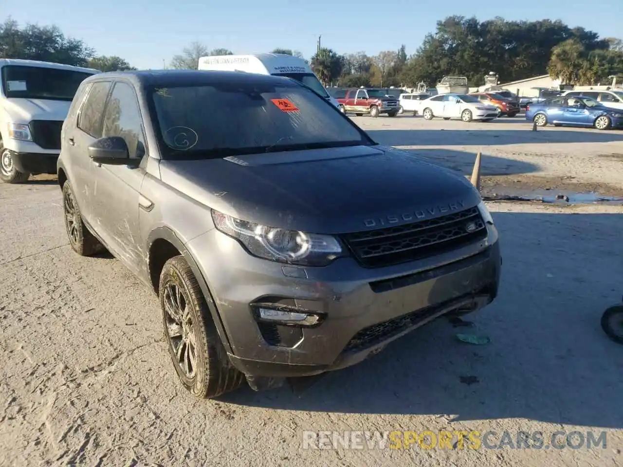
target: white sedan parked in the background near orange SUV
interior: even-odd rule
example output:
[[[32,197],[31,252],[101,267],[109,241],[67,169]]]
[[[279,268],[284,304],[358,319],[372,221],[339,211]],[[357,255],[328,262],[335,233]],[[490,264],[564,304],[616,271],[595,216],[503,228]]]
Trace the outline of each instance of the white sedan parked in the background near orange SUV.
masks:
[[[432,120],[442,117],[445,120],[460,118],[463,121],[491,121],[496,118],[498,108],[482,103],[475,96],[464,94],[438,94],[419,102],[419,113]]]

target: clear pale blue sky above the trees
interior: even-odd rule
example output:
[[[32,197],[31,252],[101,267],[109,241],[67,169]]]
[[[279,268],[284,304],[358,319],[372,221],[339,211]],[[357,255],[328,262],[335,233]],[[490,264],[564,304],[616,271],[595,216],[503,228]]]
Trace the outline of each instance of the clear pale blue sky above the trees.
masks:
[[[546,2],[523,0],[488,6],[486,1],[431,0],[28,0],[0,9],[21,25],[56,24],[65,35],[95,47],[101,55],[119,55],[138,68],[161,68],[194,40],[209,49],[236,54],[275,47],[300,50],[309,58],[321,35],[323,47],[338,53],[364,50],[369,55],[397,50],[407,54],[421,45],[435,22],[453,14],[513,20],[561,19],[602,37],[619,37],[621,0]],[[592,5],[598,5],[594,9]]]

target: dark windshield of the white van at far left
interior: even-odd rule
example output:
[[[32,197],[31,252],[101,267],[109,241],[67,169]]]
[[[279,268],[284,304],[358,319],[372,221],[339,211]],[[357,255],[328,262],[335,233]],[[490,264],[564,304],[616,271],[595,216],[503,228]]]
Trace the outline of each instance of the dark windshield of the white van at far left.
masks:
[[[2,67],[2,92],[9,98],[70,101],[80,83],[91,75],[58,68],[7,65]]]

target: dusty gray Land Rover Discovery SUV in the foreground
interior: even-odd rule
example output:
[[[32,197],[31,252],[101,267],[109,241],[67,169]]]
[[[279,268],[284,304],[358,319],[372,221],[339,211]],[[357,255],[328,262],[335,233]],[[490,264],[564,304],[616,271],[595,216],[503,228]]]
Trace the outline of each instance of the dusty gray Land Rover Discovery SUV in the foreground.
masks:
[[[351,366],[497,295],[498,233],[465,177],[289,78],[94,75],[58,174],[72,248],[155,291],[196,397]]]

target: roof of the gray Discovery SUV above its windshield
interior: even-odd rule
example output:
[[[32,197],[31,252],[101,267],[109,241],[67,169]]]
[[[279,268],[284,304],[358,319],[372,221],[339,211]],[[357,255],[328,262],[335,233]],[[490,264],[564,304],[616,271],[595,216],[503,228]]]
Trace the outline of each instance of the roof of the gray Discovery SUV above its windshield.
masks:
[[[257,83],[259,85],[292,85],[289,78],[259,73],[240,73],[216,70],[127,70],[123,72],[99,73],[88,77],[85,82],[102,78],[125,78],[143,86],[173,87],[183,85],[211,85],[221,83]]]

